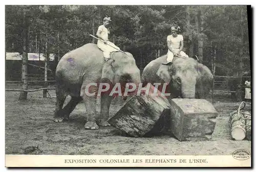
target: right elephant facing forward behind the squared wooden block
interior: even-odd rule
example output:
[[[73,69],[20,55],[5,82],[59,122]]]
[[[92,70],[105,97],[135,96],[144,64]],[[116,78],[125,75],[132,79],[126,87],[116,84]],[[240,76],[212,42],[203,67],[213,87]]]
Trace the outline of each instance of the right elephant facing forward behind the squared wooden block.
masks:
[[[167,96],[169,99],[206,98],[214,79],[206,66],[193,58],[175,57],[169,65],[162,65],[164,62],[166,55],[148,63],[141,76],[143,85],[168,83],[166,93],[170,93],[170,96]]]

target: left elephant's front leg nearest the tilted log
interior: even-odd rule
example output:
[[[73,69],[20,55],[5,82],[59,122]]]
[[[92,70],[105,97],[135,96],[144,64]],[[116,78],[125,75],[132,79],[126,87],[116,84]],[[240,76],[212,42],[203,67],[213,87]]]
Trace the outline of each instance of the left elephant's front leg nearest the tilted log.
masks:
[[[103,95],[101,97],[101,107],[100,107],[100,126],[110,126],[107,122],[109,119],[109,111],[110,111],[110,104],[113,99],[113,96]]]

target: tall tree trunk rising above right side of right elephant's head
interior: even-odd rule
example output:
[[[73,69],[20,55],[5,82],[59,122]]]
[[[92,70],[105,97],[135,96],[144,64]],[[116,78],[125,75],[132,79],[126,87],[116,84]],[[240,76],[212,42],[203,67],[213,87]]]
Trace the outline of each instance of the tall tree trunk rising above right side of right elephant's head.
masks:
[[[200,62],[203,62],[203,36],[202,31],[203,31],[203,18],[202,18],[202,13],[201,10],[198,10],[198,15],[197,15],[197,29],[198,29],[198,58]]]

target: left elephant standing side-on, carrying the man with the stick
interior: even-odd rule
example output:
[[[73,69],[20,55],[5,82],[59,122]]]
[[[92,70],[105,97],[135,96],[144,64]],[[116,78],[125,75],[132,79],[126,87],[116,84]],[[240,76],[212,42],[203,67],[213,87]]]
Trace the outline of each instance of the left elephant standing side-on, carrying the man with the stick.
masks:
[[[56,104],[54,121],[62,122],[63,120],[68,120],[70,113],[83,100],[88,116],[84,127],[88,130],[98,130],[99,126],[110,125],[108,118],[113,96],[110,94],[100,95],[101,107],[98,121],[96,120],[97,96],[88,96],[86,94],[88,84],[140,83],[141,76],[140,70],[136,66],[135,58],[131,53],[112,52],[111,59],[104,62],[103,52],[96,44],[88,43],[63,55],[56,67],[55,80]],[[95,87],[91,87],[95,89]],[[68,95],[71,96],[71,100],[62,108]]]

